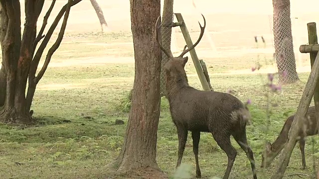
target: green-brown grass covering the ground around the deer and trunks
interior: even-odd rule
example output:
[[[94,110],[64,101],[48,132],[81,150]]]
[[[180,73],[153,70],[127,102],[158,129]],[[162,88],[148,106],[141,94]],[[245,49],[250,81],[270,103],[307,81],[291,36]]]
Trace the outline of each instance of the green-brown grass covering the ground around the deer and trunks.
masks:
[[[69,35],[69,36],[68,36]],[[103,35],[96,34],[66,35],[63,45],[54,55],[52,63],[66,61],[66,58],[95,57],[114,49],[108,47],[86,49],[83,41],[102,43],[131,42],[126,33]],[[71,38],[72,37],[72,38]],[[75,40],[74,40],[75,39]],[[92,42],[93,43],[93,42]],[[80,48],[80,46],[82,46]],[[120,48],[119,46],[115,47]],[[132,47],[130,47],[132,48]],[[86,49],[86,50],[85,50]],[[63,54],[66,51],[74,56]],[[61,52],[61,53],[60,53]],[[118,52],[118,58],[132,53]],[[112,55],[112,53],[111,53]],[[75,57],[76,56],[76,57]],[[79,57],[79,58],[78,58]],[[78,59],[77,59],[78,58]],[[108,58],[108,57],[105,57]],[[245,60],[241,58],[239,60]],[[248,64],[255,62],[246,59]],[[225,59],[222,60],[223,62]],[[189,61],[191,64],[191,61]],[[214,64],[207,61],[206,64]],[[245,64],[245,62],[241,63]],[[247,64],[247,63],[246,63]],[[220,64],[222,66],[222,64]],[[246,68],[250,68],[247,65]],[[216,68],[219,68],[217,65]],[[238,61],[229,60],[218,73],[238,68]],[[198,77],[191,75],[195,70],[192,65],[186,67],[189,84],[201,89]],[[266,98],[263,96],[266,75],[214,75],[210,73],[211,85],[217,91],[233,89],[242,101],[252,100],[250,111],[253,125],[247,126],[249,144],[253,149],[258,176],[270,179],[271,167],[263,176],[260,163],[265,138],[273,142],[278,136],[285,119],[295,113],[302,90],[309,73],[299,74],[302,82],[283,87],[280,94],[274,94],[272,101],[278,104],[273,108],[270,134],[263,133],[266,123]],[[214,73],[217,73],[214,71]],[[112,176],[106,166],[113,162],[121,151],[126,125],[115,125],[116,119],[128,122],[130,104],[127,95],[134,82],[134,64],[99,64],[90,66],[49,66],[36,90],[32,109],[37,124],[31,127],[0,124],[0,178],[1,179],[105,179]],[[301,171],[299,147],[294,149],[286,174],[312,174],[312,144],[308,137],[306,144],[306,162],[308,169]],[[317,136],[315,137],[315,139]],[[231,172],[231,178],[251,178],[251,168],[245,153],[232,139],[238,151]],[[316,142],[315,147],[319,144]],[[298,145],[297,145],[298,146]],[[158,164],[170,178],[174,175],[177,160],[178,140],[176,129],[171,122],[167,99],[161,99],[161,114],[158,130]],[[188,134],[183,164],[189,164],[190,175],[195,176],[195,162],[192,152],[191,134]],[[199,164],[202,178],[222,177],[226,165],[226,154],[213,140],[211,134],[202,133],[199,144]],[[294,177],[285,177],[299,178]]]

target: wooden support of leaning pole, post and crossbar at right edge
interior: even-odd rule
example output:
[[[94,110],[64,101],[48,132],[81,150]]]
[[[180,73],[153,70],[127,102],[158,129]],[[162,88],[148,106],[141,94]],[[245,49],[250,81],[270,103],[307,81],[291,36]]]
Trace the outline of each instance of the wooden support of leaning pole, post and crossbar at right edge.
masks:
[[[314,37],[314,28],[313,25],[308,24],[308,30],[311,32],[309,34],[310,42],[316,42],[316,37]],[[301,49],[301,48],[300,48]],[[301,50],[302,53],[304,53]],[[314,55],[312,55],[313,57]],[[299,102],[299,106],[296,112],[295,119],[292,123],[291,129],[289,130],[288,134],[288,140],[285,144],[284,149],[282,150],[281,155],[279,156],[278,161],[280,161],[277,166],[275,167],[274,173],[271,177],[271,179],[282,179],[284,177],[287,165],[289,163],[291,154],[293,152],[293,149],[296,145],[296,138],[298,137],[298,134],[303,126],[303,121],[307,120],[306,113],[308,111],[309,105],[311,103],[311,100],[314,96],[315,90],[318,92],[317,84],[319,80],[319,52],[316,54],[315,60],[313,60],[312,63],[312,70],[310,72],[308,82],[306,84],[306,87],[304,89],[303,95],[301,97],[301,100]],[[316,94],[317,95],[317,94]],[[316,105],[316,103],[315,103]],[[318,114],[317,114],[318,115]]]

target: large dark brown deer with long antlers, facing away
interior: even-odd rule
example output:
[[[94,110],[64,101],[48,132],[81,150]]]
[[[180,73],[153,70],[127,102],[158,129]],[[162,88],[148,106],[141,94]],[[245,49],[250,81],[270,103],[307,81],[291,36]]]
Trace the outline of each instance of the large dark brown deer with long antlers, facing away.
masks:
[[[203,36],[206,26],[200,26],[198,40],[186,49],[178,57],[173,57],[171,52],[166,51],[159,40],[159,19],[157,20],[156,38],[161,50],[169,60],[164,64],[166,91],[169,101],[169,109],[172,121],[177,129],[178,135],[178,157],[176,168],[180,165],[188,131],[192,133],[193,153],[196,162],[196,178],[201,177],[198,164],[198,144],[200,132],[210,132],[220,148],[227,154],[228,164],[223,179],[228,179],[234,164],[237,151],[231,145],[232,135],[240,147],[245,151],[251,163],[254,179],[257,179],[254,154],[247,144],[246,124],[251,115],[248,108],[235,96],[216,91],[201,91],[188,85],[186,72],[184,70],[188,57],[183,57],[193,49]]]

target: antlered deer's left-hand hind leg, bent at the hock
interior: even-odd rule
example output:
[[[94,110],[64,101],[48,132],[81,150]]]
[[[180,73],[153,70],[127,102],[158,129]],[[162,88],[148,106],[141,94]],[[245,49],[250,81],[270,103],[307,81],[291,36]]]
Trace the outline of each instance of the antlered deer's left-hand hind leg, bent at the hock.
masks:
[[[220,134],[220,133],[212,133],[212,134],[213,134],[213,138],[215,139],[219,147],[226,153],[228,157],[227,168],[223,177],[223,179],[228,179],[231,168],[234,165],[237,151],[230,143],[229,134]]]

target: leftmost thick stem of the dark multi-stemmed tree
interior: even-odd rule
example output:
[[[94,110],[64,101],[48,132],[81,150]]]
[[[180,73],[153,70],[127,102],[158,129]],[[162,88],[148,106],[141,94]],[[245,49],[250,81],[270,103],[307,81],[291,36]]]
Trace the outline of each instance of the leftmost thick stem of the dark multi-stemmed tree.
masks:
[[[1,120],[5,122],[26,121],[25,123],[29,123],[30,117],[23,113],[23,109],[15,108],[15,106],[21,106],[21,102],[23,103],[23,101],[20,101],[20,97],[24,95],[17,88],[20,78],[17,78],[16,75],[23,68],[21,66],[22,59],[20,59],[20,2],[19,0],[12,0],[12,2],[1,1],[1,6],[4,7],[3,13],[8,20],[2,26],[2,28],[7,27],[5,36],[1,39],[2,61],[6,72],[6,98],[0,116]]]

